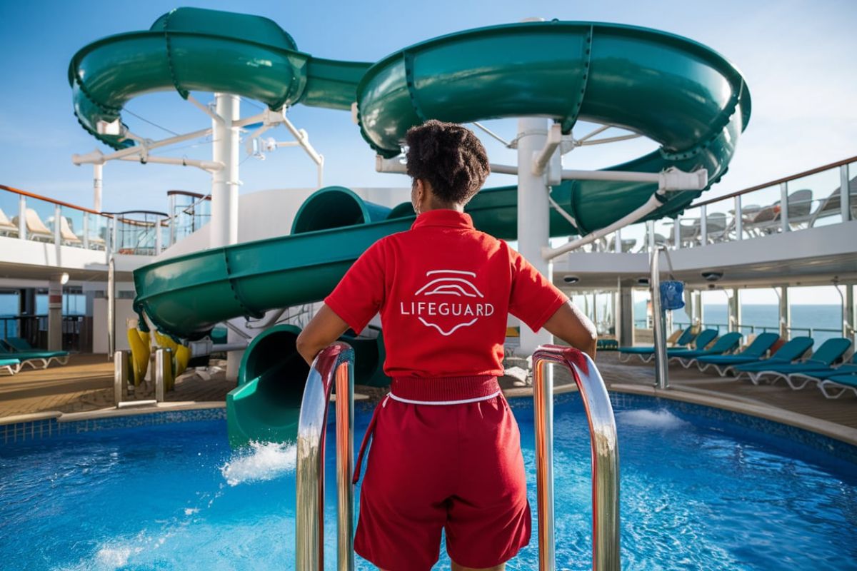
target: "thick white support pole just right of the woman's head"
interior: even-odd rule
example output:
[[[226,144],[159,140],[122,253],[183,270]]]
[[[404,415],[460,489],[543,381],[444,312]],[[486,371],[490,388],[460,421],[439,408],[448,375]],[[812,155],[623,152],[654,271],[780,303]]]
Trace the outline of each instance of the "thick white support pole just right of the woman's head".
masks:
[[[547,119],[524,117],[518,120],[518,252],[548,280],[552,280],[553,265],[542,258],[542,247],[549,245],[548,187],[544,175],[533,174],[536,153],[547,141]],[[539,345],[552,340],[553,336],[547,330],[533,333],[521,324],[522,354],[532,354]]]

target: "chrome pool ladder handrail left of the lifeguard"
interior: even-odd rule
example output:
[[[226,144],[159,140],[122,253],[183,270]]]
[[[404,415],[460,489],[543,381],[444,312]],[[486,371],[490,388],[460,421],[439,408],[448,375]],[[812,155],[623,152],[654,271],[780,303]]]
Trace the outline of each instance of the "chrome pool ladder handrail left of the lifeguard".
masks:
[[[324,450],[327,403],[336,384],[337,569],[354,569],[354,349],[335,342],[309,369],[297,421],[296,569],[324,568]]]

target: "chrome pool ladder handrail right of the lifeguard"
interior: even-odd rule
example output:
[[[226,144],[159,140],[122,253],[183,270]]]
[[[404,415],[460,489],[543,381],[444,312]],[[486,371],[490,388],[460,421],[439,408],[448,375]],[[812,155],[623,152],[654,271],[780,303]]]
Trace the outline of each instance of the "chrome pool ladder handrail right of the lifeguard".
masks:
[[[592,447],[592,569],[619,571],[619,447],[607,387],[590,356],[542,345],[533,354],[539,571],[554,571],[554,381],[548,363],[567,366],[578,385]]]

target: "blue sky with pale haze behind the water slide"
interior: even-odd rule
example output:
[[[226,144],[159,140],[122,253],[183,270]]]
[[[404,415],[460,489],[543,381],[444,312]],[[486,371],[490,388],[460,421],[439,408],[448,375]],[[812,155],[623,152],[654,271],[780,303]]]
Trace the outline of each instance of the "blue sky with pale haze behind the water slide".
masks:
[[[146,29],[178,5],[265,15],[291,33],[298,48],[319,57],[376,61],[423,39],[531,16],[613,21],[679,33],[709,45],[745,74],[753,98],[750,127],[728,175],[710,193],[728,193],[857,155],[857,3],[854,2],[3,2],[0,6],[0,182],[91,206],[92,168],[70,157],[99,143],[77,124],[66,72],[83,45],[112,33]],[[203,100],[210,99],[200,94]],[[206,128],[210,120],[175,92],[132,100],[128,109],[176,132]],[[258,108],[243,104],[243,115]],[[406,186],[401,175],[375,173],[374,155],[345,112],[297,106],[291,120],[306,128],[326,157],[326,184]],[[126,116],[135,131],[157,139],[168,134]],[[511,139],[516,123],[492,122]],[[288,139],[285,130],[272,132]],[[103,151],[107,149],[100,146]],[[650,149],[633,141],[612,149],[578,150],[567,168],[601,168]],[[488,144],[494,162],[512,153]],[[210,146],[185,146],[171,156],[210,158]],[[243,193],[271,187],[311,187],[315,167],[303,152],[281,149],[264,162],[241,166]],[[512,179],[494,175],[490,184]],[[165,210],[165,191],[207,192],[201,170],[162,165],[105,166],[105,211]]]

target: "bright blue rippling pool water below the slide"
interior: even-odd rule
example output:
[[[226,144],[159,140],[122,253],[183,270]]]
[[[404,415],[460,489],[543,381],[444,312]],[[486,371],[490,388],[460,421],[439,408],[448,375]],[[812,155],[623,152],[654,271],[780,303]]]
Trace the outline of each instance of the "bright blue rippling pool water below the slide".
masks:
[[[512,406],[535,505],[532,406]],[[635,398],[614,410],[624,569],[857,569],[851,461],[669,401]],[[559,397],[555,414],[557,568],[583,571],[591,549],[586,421],[574,395]],[[369,410],[358,407],[356,438],[368,421]],[[294,460],[287,446],[233,454],[223,420],[0,446],[0,562],[39,570],[292,568]],[[508,568],[535,568],[535,544],[534,534]],[[441,553],[435,568],[448,569]],[[372,567],[358,557],[357,568]]]

